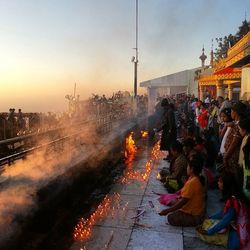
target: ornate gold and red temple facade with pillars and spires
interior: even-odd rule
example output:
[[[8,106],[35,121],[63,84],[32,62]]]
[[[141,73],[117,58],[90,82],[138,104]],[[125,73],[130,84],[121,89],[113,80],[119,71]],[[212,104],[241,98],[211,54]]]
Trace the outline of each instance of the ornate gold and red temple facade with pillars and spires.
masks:
[[[204,51],[200,59],[204,60]],[[250,32],[227,51],[227,56],[218,62],[213,61],[211,51],[211,67],[197,74],[199,99],[207,96],[216,98],[223,96],[234,100],[250,99]]]

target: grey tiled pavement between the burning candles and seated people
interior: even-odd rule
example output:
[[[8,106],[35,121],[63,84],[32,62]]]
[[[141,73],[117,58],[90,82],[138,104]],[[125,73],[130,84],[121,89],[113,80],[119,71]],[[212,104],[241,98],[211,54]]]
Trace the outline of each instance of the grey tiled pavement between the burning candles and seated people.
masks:
[[[150,152],[144,150],[142,157],[134,162],[134,169],[143,172],[150,158]],[[87,242],[75,241],[71,250],[181,250],[181,249],[223,249],[210,246],[199,240],[194,228],[173,227],[166,224],[166,218],[158,212],[164,208],[158,202],[157,193],[166,193],[165,188],[156,179],[159,169],[166,166],[162,156],[154,161],[150,178],[147,182],[130,180],[129,184],[117,184],[110,192],[120,194],[120,201],[114,214],[93,227],[92,238]],[[219,191],[208,191],[208,214],[221,207]],[[150,203],[154,205],[152,207]],[[145,211],[139,218],[133,218]]]

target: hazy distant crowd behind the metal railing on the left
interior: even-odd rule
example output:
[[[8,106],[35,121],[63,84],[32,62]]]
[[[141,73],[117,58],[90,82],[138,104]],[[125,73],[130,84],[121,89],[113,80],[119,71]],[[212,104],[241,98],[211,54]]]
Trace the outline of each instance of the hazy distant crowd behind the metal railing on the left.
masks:
[[[138,115],[145,115],[147,110],[147,96],[136,98]],[[109,117],[109,121],[116,121],[131,117],[133,113],[133,97],[128,92],[118,91],[111,97],[93,94],[86,101],[70,101],[69,110],[55,113],[23,113],[15,108],[9,112],[0,113],[0,140],[55,129],[61,126],[72,125],[84,120],[98,120]],[[100,119],[101,120],[101,119]]]

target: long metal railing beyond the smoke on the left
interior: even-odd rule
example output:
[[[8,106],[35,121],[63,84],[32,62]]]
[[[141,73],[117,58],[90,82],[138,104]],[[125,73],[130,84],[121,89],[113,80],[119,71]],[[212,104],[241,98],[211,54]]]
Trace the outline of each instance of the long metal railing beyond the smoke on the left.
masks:
[[[63,143],[66,140],[72,139],[75,136],[82,133],[82,129],[87,126],[93,127],[100,135],[109,133],[112,131],[113,123],[117,121],[124,121],[125,119],[131,119],[132,113],[109,112],[107,114],[98,116],[89,116],[87,120],[75,121],[68,126],[57,127],[48,129],[45,131],[38,130],[37,132],[19,135],[6,140],[0,140],[0,150],[2,148],[9,149],[5,155],[0,158],[0,172],[4,170],[5,165],[11,165],[17,159],[25,157],[25,155],[39,150],[45,147],[51,147],[58,143]],[[65,135],[68,131],[71,131],[70,135]],[[72,132],[73,131],[73,132]],[[75,132],[77,131],[77,132]],[[48,143],[39,144],[43,138],[49,138]],[[16,146],[17,145],[17,146]],[[22,145],[21,149],[18,148]]]

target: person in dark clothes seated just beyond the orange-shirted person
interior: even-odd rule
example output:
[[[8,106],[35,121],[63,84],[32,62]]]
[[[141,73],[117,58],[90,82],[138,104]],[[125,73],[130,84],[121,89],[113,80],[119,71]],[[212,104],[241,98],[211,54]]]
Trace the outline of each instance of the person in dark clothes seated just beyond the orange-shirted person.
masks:
[[[187,177],[187,159],[182,150],[182,144],[178,141],[170,146],[172,160],[170,163],[170,174],[165,178],[165,187],[169,193],[175,193]]]

